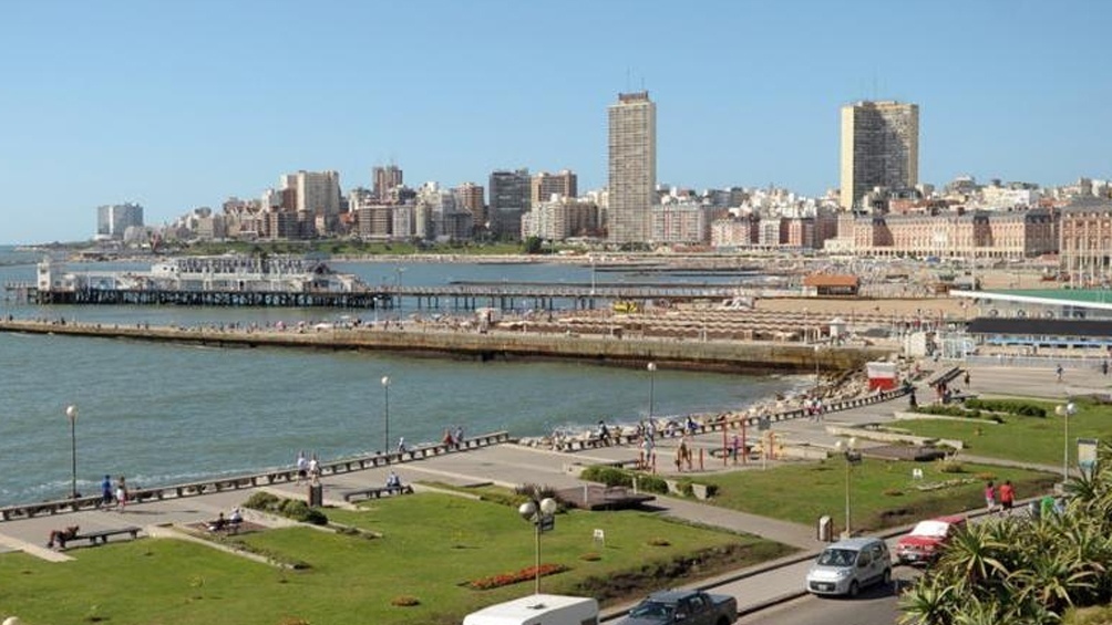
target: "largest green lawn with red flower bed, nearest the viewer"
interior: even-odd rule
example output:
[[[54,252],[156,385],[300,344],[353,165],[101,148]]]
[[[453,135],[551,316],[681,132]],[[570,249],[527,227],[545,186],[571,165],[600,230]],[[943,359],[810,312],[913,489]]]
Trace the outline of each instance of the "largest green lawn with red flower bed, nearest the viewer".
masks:
[[[277,560],[302,562],[304,569],[156,538],[72,550],[76,560],[64,564],[7,554],[0,556],[0,615],[51,625],[458,624],[479,606],[533,592],[532,578],[490,591],[466,587],[533,566],[534,528],[508,506],[423,493],[327,513],[381,537],[296,527],[236,538]],[[594,542],[596,528],[605,532],[605,545]],[[646,584],[683,583],[676,562],[703,550],[713,552],[698,569],[704,576],[792,551],[635,511],[573,511],[543,536],[542,562],[569,571],[543,577],[542,591],[605,598],[597,591],[604,583],[613,588],[627,581],[625,594],[636,596]],[[420,603],[393,606],[400,596]]]

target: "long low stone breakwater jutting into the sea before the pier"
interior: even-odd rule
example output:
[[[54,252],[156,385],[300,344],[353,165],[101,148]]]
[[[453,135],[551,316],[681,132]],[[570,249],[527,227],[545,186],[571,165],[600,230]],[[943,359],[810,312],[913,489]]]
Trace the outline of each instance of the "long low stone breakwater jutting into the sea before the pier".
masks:
[[[436,324],[395,325],[391,329],[327,327],[248,330],[103,325],[24,320],[0,322],[0,332],[98,336],[192,343],[221,347],[300,347],[317,350],[378,350],[415,355],[448,355],[481,361],[564,359],[595,364],[661,366],[692,371],[738,373],[852,371],[891,350],[871,346],[813,345],[771,341],[683,341],[654,337],[614,337],[492,330],[454,330]]]

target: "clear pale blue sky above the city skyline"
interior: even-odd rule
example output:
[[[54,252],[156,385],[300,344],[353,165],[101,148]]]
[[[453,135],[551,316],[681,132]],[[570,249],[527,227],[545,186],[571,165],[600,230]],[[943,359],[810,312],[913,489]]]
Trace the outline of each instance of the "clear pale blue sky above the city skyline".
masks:
[[[345,191],[606,183],[606,107],[657,103],[657,179],[837,185],[838,108],[920,104],[920,179],[1112,178],[1100,0],[6,0],[0,243],[159,224],[299,169]]]

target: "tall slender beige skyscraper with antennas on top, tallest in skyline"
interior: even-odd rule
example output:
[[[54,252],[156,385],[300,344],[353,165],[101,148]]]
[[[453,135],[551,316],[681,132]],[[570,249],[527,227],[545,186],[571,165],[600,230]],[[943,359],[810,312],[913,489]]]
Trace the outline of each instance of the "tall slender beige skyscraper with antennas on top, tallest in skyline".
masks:
[[[609,129],[607,239],[643,243],[652,234],[656,188],[656,104],[648,91],[619,93]]]

